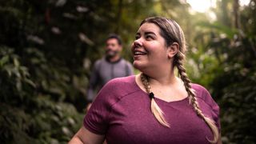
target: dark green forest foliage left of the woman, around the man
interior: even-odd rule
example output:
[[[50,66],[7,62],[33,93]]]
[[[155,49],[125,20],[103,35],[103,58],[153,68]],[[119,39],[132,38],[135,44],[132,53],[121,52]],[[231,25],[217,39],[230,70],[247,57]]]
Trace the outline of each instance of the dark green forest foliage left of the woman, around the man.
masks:
[[[68,142],[82,126],[90,64],[106,36],[121,34],[130,58],[126,46],[153,3],[1,1],[1,143]]]

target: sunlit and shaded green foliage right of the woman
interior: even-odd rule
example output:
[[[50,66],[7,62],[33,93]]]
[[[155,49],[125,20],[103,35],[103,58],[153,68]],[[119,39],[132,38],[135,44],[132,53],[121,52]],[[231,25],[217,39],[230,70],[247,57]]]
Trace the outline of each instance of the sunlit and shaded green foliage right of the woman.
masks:
[[[223,143],[254,143],[256,25],[251,14],[255,2],[240,10],[230,7],[234,2],[218,2],[216,22],[198,22],[200,30],[190,49],[188,67],[194,82],[208,87],[221,108]],[[241,14],[242,20],[230,14],[231,10]]]

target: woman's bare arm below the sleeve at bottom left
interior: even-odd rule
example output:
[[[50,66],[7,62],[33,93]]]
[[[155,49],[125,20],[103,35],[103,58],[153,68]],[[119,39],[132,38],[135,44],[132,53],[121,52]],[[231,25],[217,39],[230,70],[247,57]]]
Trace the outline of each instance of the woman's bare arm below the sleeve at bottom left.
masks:
[[[69,144],[102,144],[105,135],[98,135],[90,132],[84,126],[70,140]]]

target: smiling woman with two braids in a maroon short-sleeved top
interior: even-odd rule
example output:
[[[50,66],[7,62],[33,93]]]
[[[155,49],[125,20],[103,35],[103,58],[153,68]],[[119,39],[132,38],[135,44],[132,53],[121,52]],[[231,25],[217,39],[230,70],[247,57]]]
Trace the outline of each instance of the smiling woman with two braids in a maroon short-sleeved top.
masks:
[[[186,75],[181,27],[146,18],[131,50],[142,74],[108,82],[70,143],[221,143],[218,105]]]

